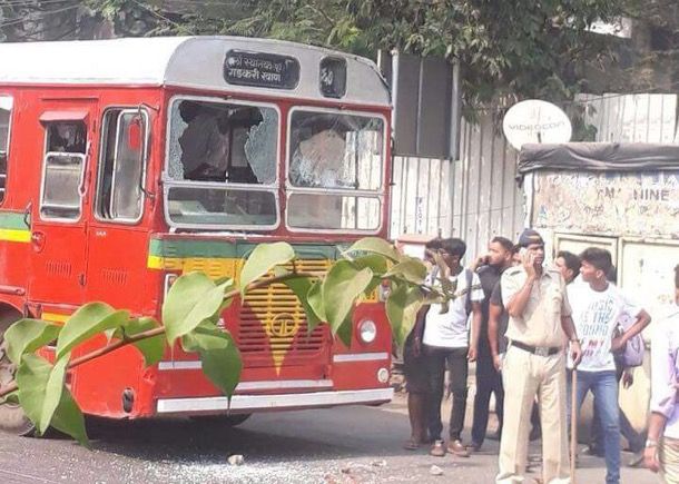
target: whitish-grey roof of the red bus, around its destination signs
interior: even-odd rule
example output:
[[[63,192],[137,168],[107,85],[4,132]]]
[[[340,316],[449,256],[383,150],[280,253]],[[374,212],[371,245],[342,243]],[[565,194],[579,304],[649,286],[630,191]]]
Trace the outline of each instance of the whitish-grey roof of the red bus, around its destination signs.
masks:
[[[293,87],[248,87],[225,80],[229,51],[295,58]],[[388,89],[371,60],[318,47],[242,37],[156,37],[0,43],[0,85],[168,86],[322,99],[321,61],[346,62],[341,102],[390,106]]]

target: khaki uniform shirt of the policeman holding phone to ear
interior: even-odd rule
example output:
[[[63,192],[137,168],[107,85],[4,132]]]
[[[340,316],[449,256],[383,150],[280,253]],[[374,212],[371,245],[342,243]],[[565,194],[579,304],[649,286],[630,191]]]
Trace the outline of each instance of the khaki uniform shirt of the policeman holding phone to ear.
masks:
[[[502,275],[502,302],[508,304],[521,290],[528,275],[523,267],[512,267]],[[506,337],[531,346],[563,346],[567,342],[561,327],[561,316],[570,316],[565,281],[558,270],[543,268],[533,283],[531,295],[520,317],[510,315]]]

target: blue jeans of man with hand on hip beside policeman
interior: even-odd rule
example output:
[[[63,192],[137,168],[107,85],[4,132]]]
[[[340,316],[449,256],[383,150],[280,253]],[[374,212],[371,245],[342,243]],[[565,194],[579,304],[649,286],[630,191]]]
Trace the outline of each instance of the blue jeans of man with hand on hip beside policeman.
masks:
[[[569,372],[569,394],[572,392]],[[575,393],[578,413],[588,392],[594,395],[594,408],[601,422],[603,435],[603,457],[606,460],[607,484],[620,482],[620,415],[618,413],[618,378],[614,371],[578,372],[578,388]],[[569,421],[571,415],[571,398],[568,398]],[[569,422],[570,427],[570,422]]]

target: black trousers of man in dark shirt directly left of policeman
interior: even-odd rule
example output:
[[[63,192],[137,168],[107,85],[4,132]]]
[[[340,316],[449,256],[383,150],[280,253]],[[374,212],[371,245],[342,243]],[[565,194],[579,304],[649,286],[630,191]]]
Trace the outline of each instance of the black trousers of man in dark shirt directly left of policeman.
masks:
[[[504,406],[502,375],[495,371],[490,349],[488,352],[480,350],[476,358],[476,395],[474,396],[474,422],[472,424],[472,442],[479,445],[483,444],[485,439],[489,405],[493,393],[495,394],[495,413],[500,424],[498,428],[501,429]]]

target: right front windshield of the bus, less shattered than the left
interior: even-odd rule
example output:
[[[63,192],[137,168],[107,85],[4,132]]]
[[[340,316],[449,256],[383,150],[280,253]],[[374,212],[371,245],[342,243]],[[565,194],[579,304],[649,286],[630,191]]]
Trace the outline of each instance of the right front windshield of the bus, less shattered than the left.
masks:
[[[381,226],[384,119],[296,109],[291,116],[287,224],[375,231]]]

